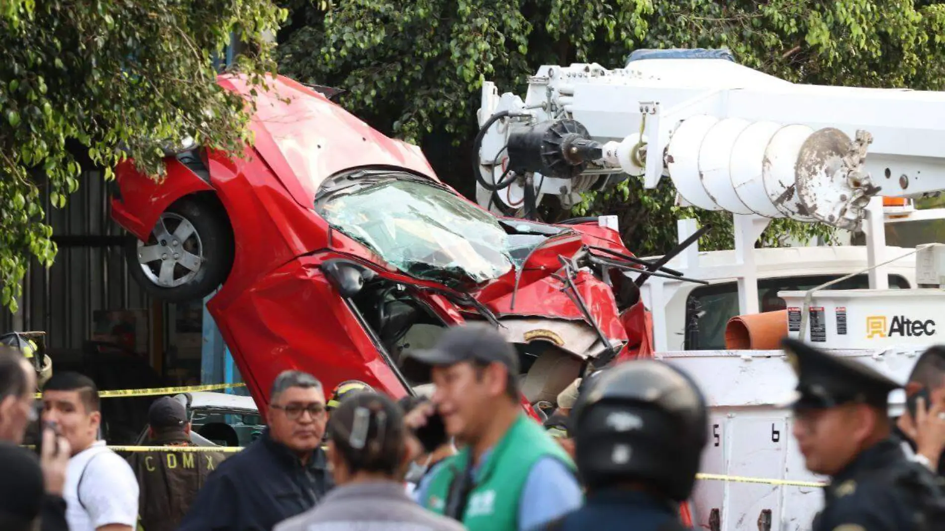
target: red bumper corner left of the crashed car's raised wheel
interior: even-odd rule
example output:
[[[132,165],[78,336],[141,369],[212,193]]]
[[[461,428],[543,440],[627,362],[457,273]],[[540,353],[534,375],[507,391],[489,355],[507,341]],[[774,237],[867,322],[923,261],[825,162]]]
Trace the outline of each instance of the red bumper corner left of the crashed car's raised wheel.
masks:
[[[214,189],[177,159],[166,159],[165,165],[167,174],[160,182],[139,172],[130,160],[115,167],[121,198],[112,197],[112,217],[139,240],[147,241],[158,217],[174,201]]]

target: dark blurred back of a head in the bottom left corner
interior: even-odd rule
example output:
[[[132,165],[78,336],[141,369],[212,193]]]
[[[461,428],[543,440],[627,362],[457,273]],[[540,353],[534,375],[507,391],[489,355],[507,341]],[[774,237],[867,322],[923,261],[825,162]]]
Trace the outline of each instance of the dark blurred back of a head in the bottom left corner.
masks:
[[[0,515],[11,522],[33,521],[43,504],[43,471],[36,454],[0,441]]]

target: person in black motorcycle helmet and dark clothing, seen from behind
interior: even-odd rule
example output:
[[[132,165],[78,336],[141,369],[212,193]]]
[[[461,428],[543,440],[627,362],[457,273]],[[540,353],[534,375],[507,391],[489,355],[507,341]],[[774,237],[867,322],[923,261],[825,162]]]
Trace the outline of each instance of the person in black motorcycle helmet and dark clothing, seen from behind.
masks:
[[[587,503],[546,529],[674,531],[708,436],[706,401],[692,379],[657,360],[602,372],[571,412]]]

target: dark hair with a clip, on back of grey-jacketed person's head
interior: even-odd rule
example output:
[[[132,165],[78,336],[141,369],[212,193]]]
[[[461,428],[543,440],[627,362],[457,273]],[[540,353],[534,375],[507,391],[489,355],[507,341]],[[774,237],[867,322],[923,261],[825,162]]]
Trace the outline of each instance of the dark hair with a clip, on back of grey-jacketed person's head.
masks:
[[[328,438],[348,470],[397,475],[405,451],[401,408],[386,395],[361,391],[344,400],[328,420]]]

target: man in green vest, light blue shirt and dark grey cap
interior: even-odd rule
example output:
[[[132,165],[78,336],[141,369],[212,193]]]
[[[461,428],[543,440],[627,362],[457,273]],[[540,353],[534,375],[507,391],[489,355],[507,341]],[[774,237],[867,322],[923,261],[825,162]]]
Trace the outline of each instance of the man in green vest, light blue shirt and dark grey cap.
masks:
[[[416,429],[438,414],[464,444],[423,479],[421,505],[471,531],[533,529],[581,505],[574,462],[525,415],[518,354],[495,329],[452,328],[433,349],[407,353],[409,368],[429,375],[424,381],[436,390],[408,425]]]

